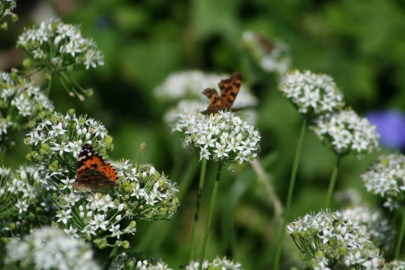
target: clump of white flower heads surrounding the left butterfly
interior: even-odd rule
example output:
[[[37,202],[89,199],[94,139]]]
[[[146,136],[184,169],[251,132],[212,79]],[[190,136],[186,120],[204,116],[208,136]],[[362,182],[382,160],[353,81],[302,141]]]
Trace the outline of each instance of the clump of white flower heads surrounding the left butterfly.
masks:
[[[76,117],[73,110],[52,114],[34,126],[26,139],[32,148],[28,158],[58,190],[55,218],[67,234],[93,241],[98,248],[128,248],[121,235],[135,234],[136,220],[172,218],[179,207],[177,186],[152,165],[133,165],[128,160],[112,163],[118,177],[116,188],[108,194],[77,190],[73,186],[76,164],[85,142],[101,149],[103,156],[112,149],[112,137],[104,126]]]

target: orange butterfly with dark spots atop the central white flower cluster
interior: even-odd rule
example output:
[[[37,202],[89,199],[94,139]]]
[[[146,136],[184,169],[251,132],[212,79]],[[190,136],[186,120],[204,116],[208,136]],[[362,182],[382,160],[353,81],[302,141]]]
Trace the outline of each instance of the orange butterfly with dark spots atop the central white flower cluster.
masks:
[[[207,88],[202,91],[204,96],[209,98],[209,105],[203,114],[212,114],[223,110],[237,111],[241,109],[230,109],[235,101],[237,93],[239,93],[240,85],[242,84],[242,74],[233,73],[228,79],[221,80],[218,86],[221,89],[221,96],[214,88]]]

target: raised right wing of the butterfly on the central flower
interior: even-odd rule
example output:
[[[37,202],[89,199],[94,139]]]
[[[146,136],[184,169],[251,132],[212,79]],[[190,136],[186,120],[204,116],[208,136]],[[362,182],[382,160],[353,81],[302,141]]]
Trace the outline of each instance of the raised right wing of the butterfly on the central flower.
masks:
[[[228,79],[221,80],[218,86],[221,89],[221,110],[228,110],[232,107],[233,102],[239,93],[240,85],[242,84],[242,74],[233,73]]]

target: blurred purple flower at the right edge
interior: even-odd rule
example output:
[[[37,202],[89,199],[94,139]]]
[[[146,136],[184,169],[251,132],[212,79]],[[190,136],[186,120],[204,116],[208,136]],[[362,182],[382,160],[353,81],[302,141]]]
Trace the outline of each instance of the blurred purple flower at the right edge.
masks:
[[[386,147],[405,149],[405,114],[399,110],[370,112],[369,121],[381,134],[380,142]]]

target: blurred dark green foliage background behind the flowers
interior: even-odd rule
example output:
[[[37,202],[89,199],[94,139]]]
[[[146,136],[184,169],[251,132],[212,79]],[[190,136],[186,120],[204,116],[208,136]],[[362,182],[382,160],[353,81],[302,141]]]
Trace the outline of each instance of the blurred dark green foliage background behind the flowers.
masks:
[[[15,49],[15,40],[23,28],[52,15],[81,24],[84,36],[94,38],[105,55],[104,66],[75,73],[82,86],[94,89],[93,97],[80,102],[57,84],[50,97],[59,112],[74,107],[105,124],[114,137],[110,158],[135,162],[140,143],[146,142],[142,162],[178,183],[182,205],[174,220],[140,222],[132,239],[134,250],[161,257],[173,268],[189,260],[199,171],[196,154],[182,149],[182,135],[170,133],[163,121],[168,105],[153,93],[170,73],[198,69],[244,75],[243,83],[260,98],[260,162],[282,202],[302,118],[277,90],[277,77],[260,70],[243,49],[243,31],[283,40],[293,68],[334,77],[346,103],[360,114],[405,107],[404,1],[21,0],[15,11],[20,20],[0,31],[1,70],[20,67],[24,54]],[[17,140],[6,165],[24,163],[27,151]],[[381,205],[360,181],[373,159],[345,158],[337,190],[357,188],[365,202]],[[290,220],[322,208],[333,163],[334,155],[307,133]],[[209,163],[200,243],[215,170]],[[249,165],[223,174],[206,257],[228,255],[246,269],[272,268],[279,223],[263,190]],[[399,216],[388,215],[399,227]],[[285,245],[283,268],[299,265],[293,241],[286,237]],[[385,255],[391,259],[392,250]]]

